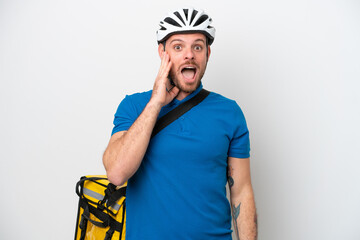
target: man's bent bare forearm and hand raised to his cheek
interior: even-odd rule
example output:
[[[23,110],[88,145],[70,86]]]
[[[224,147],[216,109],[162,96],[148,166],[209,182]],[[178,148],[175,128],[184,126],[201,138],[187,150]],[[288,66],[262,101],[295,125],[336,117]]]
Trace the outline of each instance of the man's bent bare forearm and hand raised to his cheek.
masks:
[[[117,132],[110,138],[103,164],[109,181],[115,185],[124,184],[137,171],[161,108],[179,92],[176,87],[167,91],[170,88],[167,79],[170,68],[169,55],[163,53],[150,101],[128,131]]]

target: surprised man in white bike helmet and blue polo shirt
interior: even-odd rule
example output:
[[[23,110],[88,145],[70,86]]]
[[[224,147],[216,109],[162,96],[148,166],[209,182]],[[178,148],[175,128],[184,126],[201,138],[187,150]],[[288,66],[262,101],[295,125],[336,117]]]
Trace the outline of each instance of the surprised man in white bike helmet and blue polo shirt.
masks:
[[[115,114],[103,163],[112,183],[128,181],[127,240],[231,239],[227,180],[236,235],[256,239],[249,133],[235,101],[211,92],[150,139],[159,117],[202,89],[211,22],[192,8],[160,21],[153,90],[127,96]]]

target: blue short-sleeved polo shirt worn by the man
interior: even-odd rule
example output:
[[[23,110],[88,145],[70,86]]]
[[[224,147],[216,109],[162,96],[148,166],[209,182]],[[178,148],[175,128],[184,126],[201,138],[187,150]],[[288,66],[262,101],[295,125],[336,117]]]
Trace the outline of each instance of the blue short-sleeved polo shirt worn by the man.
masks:
[[[159,117],[189,100],[174,99]],[[126,96],[112,134],[128,130],[152,91]],[[211,92],[151,139],[127,187],[127,240],[229,240],[227,158],[248,158],[249,132],[235,101]]]

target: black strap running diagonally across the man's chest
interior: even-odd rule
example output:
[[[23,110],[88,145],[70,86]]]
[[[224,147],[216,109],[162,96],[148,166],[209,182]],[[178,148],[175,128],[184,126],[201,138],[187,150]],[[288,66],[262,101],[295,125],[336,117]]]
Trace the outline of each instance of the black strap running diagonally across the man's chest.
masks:
[[[190,100],[180,104],[164,116],[162,116],[155,124],[151,137],[154,137],[158,134],[161,130],[163,130],[166,126],[170,123],[178,119],[181,115],[189,111],[191,108],[198,105],[202,100],[204,100],[210,92],[205,89],[201,89],[201,91],[192,97]]]

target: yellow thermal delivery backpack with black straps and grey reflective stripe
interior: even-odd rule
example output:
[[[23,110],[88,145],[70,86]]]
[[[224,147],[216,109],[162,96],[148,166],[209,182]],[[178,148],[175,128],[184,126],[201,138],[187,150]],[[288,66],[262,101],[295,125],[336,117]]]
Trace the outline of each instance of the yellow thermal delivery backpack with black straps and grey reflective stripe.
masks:
[[[116,187],[105,175],[80,178],[75,240],[125,240],[126,184]]]

